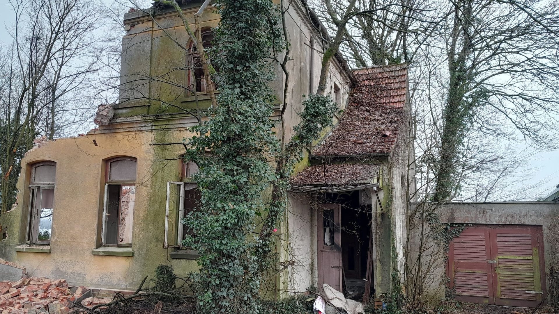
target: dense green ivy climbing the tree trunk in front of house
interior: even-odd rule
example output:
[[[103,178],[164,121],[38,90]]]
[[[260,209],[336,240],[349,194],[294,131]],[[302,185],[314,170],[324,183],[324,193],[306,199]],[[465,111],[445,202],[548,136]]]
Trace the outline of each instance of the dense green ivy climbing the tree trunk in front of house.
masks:
[[[335,104],[309,96],[286,149],[271,120],[275,96],[272,55],[286,42],[281,12],[271,0],[217,0],[220,25],[210,54],[219,69],[217,107],[191,128],[186,158],[200,167],[192,179],[201,203],[184,218],[198,250],[193,274],[198,313],[259,313],[263,274],[271,265],[272,234],[286,209],[293,165],[323,127]],[[263,196],[272,191],[272,199]],[[269,194],[269,193],[268,193]]]

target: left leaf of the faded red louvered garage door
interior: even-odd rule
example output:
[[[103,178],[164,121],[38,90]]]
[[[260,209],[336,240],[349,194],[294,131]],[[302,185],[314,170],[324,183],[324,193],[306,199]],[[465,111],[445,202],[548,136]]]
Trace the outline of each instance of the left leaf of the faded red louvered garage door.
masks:
[[[450,287],[459,301],[494,304],[487,227],[468,227],[449,247]]]

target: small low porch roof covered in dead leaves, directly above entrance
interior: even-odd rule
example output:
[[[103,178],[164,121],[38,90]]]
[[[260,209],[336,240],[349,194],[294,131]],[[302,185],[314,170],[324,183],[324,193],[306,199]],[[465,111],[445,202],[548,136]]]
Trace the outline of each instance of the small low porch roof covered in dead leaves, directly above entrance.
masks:
[[[371,164],[321,164],[303,169],[293,178],[293,185],[350,186],[371,183],[378,175],[379,165]]]

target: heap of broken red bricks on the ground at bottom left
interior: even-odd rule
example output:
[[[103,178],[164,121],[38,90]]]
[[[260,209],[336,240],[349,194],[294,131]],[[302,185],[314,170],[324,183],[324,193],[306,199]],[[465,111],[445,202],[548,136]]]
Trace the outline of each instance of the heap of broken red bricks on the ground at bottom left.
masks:
[[[68,314],[79,303],[86,307],[111,302],[96,298],[86,287],[68,287],[65,279],[23,277],[0,282],[0,314]]]

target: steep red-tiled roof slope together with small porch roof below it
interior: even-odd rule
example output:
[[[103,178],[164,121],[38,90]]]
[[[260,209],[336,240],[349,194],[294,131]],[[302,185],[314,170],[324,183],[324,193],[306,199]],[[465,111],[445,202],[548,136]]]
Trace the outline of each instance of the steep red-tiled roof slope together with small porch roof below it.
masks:
[[[379,164],[330,164],[330,158],[389,156],[409,103],[407,64],[353,71],[358,84],[347,110],[323,143],[311,152],[311,165],[292,179],[295,192],[341,192],[378,186]],[[355,162],[355,160],[353,160]]]

